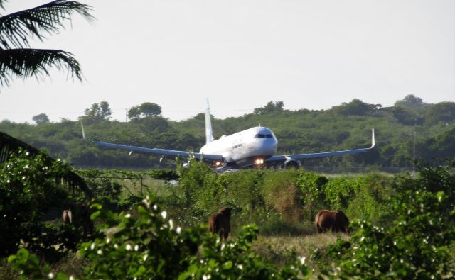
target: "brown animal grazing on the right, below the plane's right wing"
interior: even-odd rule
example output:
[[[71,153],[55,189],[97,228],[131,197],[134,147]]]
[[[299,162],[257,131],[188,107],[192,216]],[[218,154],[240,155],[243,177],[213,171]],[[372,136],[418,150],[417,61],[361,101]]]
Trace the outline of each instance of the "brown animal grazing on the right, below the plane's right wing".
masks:
[[[348,233],[349,219],[341,210],[321,210],[316,214],[314,223],[318,233],[325,233],[327,230]]]

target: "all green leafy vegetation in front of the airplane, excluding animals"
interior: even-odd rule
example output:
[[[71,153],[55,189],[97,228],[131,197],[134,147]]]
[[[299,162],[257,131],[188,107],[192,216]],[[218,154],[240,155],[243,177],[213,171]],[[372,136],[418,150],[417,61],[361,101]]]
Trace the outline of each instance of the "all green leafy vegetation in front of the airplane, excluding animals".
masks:
[[[6,217],[0,219],[5,229],[0,240],[2,248],[9,247],[3,257],[11,254],[8,267],[23,279],[454,276],[455,162],[417,163],[417,176],[394,177],[326,177],[295,169],[218,174],[196,161],[178,174],[79,171],[99,202],[92,203],[95,234],[81,235],[80,228],[50,215],[71,195],[53,179],[70,167],[44,159],[19,152],[0,168],[0,210]],[[154,176],[178,177],[178,184],[164,184],[166,192],[145,199],[140,188],[124,196],[125,179]],[[226,242],[206,225],[210,213],[223,206],[233,209]],[[311,220],[321,208],[346,212],[351,235],[316,235]],[[310,237],[323,245],[309,244]],[[55,269],[55,261],[74,250],[81,269]]]

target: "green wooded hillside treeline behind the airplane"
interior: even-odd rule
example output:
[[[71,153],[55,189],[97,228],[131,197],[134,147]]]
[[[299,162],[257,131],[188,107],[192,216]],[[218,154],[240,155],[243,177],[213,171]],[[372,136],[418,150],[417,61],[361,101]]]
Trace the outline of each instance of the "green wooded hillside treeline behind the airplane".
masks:
[[[79,119],[87,138],[140,147],[198,152],[205,144],[205,119],[200,113],[184,121],[161,116],[161,107],[142,103],[129,109],[128,122],[111,121],[109,103],[92,104]],[[82,140],[80,123],[62,119],[51,123],[45,113],[35,124],[1,121],[0,130],[76,167],[171,168],[173,161],[129,155],[124,150],[95,147]],[[215,138],[252,126],[271,128],[279,140],[278,153],[321,152],[370,145],[375,128],[375,150],[358,155],[309,159],[303,166],[348,171],[353,168],[410,169],[410,159],[455,157],[455,103],[424,103],[409,95],[392,107],[353,99],[328,110],[289,111],[284,103],[270,101],[253,113],[225,119],[213,118]]]

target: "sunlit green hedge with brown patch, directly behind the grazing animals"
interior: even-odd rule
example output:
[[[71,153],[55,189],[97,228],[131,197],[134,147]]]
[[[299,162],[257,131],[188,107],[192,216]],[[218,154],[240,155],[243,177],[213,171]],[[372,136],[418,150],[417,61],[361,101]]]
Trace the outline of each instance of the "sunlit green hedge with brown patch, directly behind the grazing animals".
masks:
[[[230,206],[234,228],[256,223],[262,234],[313,230],[314,216],[325,208],[346,211],[352,219],[378,221],[387,212],[384,200],[391,191],[390,177],[374,173],[330,179],[301,170],[220,174],[192,161],[179,169],[179,176],[173,195],[159,198],[179,223],[206,223],[211,213]]]

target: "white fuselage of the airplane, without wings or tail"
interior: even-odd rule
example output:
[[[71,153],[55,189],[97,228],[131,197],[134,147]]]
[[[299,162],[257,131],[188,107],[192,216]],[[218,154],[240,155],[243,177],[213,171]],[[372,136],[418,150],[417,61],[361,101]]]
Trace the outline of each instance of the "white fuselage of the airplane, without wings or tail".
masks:
[[[208,142],[201,154],[222,155],[225,162],[243,162],[255,157],[267,159],[277,152],[278,140],[269,128],[255,127],[223,135],[218,140]]]

